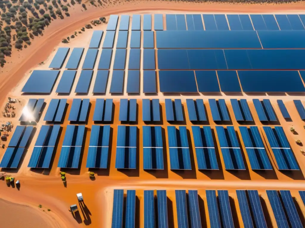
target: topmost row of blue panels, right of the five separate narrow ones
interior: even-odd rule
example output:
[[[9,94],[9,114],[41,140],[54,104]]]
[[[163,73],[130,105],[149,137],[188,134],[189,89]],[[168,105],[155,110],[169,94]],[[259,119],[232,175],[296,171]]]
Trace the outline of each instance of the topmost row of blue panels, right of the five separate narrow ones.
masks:
[[[303,14],[166,14],[166,30],[305,30],[304,24]]]

